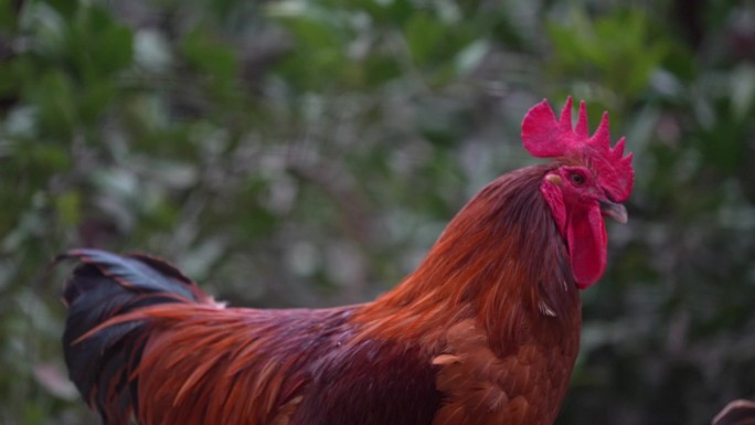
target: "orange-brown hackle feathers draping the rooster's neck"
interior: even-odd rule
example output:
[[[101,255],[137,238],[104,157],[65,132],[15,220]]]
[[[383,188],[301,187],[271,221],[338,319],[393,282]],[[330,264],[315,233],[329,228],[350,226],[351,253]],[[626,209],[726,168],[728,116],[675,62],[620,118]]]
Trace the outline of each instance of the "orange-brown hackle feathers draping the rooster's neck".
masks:
[[[566,247],[539,190],[552,167],[524,168],[488,184],[417,269],[353,319],[365,333],[430,344],[471,317],[491,343],[517,338],[531,315],[566,319],[578,298]]]

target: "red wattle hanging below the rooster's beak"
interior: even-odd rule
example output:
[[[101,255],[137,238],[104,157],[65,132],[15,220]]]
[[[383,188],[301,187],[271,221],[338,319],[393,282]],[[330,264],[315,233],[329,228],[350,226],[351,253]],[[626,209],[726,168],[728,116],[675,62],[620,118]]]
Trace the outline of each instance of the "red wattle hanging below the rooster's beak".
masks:
[[[606,269],[608,240],[597,203],[587,211],[573,212],[566,234],[572,273],[577,287],[585,289],[598,281]]]

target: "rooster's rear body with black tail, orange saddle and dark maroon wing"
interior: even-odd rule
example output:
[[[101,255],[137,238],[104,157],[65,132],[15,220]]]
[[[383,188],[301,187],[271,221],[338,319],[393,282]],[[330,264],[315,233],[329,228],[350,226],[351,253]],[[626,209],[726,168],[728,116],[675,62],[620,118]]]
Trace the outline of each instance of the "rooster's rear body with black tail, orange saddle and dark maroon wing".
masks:
[[[106,425],[430,424],[436,366],[360,336],[357,307],[225,308],[146,255],[73,249],[70,378]]]

